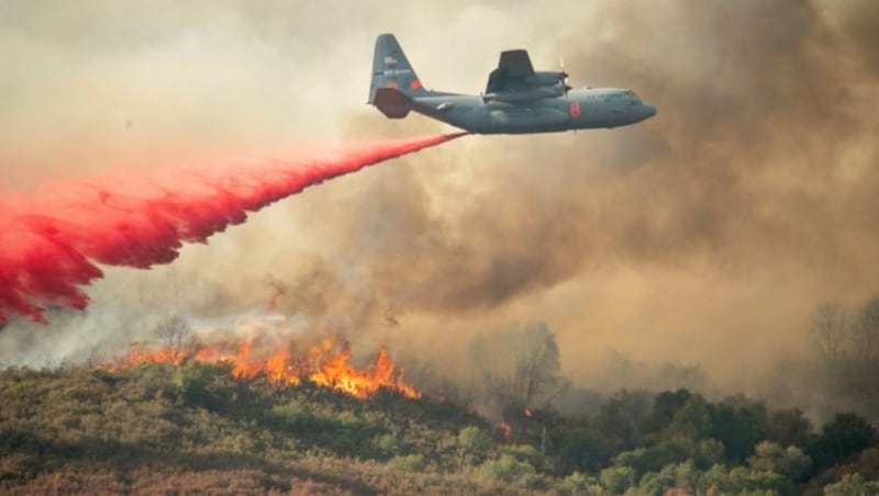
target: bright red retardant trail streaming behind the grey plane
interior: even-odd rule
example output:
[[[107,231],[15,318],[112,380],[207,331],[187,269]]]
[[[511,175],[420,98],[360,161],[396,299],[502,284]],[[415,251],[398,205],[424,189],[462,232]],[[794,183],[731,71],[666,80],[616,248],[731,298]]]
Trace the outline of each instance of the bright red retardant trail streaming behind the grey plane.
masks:
[[[12,313],[46,322],[46,307],[85,308],[81,286],[103,275],[96,263],[168,263],[183,243],[205,243],[246,221],[246,212],[463,134],[345,146],[330,159],[238,162],[0,196],[0,324]]]

